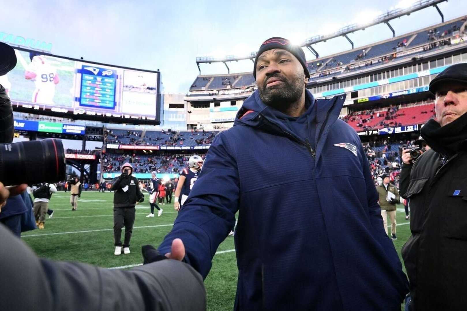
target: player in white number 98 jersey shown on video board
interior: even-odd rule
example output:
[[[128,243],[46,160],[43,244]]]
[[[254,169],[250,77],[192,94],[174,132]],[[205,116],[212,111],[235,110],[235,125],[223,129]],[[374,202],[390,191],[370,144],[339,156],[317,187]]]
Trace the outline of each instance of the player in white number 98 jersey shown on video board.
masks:
[[[31,101],[40,104],[53,104],[55,85],[60,82],[57,69],[47,62],[44,55],[37,52],[30,52],[29,58],[31,64],[26,69],[24,78],[35,83]]]

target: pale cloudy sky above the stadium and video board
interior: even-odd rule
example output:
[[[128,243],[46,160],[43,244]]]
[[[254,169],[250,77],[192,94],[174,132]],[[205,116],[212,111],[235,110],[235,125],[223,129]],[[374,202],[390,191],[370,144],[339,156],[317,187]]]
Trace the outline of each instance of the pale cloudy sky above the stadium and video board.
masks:
[[[198,75],[197,56],[256,51],[283,36],[303,41],[364,21],[410,0],[120,1],[7,0],[0,31],[53,44],[52,53],[141,69],[160,69],[165,92],[186,93]],[[465,0],[439,4],[445,21],[467,15]],[[434,7],[391,22],[396,35],[441,22]],[[382,24],[350,34],[355,47],[389,39]],[[322,56],[351,48],[341,37],[314,46]],[[313,59],[306,51],[307,59]],[[231,73],[253,70],[249,60]],[[224,64],[202,64],[202,74],[224,74]]]

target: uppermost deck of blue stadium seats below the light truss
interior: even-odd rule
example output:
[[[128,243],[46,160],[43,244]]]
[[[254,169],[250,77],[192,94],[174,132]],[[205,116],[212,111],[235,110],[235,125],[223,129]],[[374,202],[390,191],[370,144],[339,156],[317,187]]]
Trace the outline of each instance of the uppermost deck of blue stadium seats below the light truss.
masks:
[[[309,85],[326,81],[332,77],[356,73],[359,70],[371,71],[377,65],[395,60],[411,60],[437,50],[447,48],[455,37],[465,33],[467,16],[400,35],[385,41],[362,46],[345,52],[320,57],[309,61],[311,73]],[[467,42],[455,42],[467,45]],[[210,95],[244,95],[255,90],[252,72],[230,75],[200,75],[188,93],[188,97]]]

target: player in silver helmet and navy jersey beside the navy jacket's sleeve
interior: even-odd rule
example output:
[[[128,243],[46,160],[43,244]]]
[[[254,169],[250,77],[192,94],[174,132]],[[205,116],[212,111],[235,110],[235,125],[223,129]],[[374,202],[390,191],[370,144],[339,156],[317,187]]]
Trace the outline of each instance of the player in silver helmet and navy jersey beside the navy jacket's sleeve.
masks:
[[[177,189],[175,190],[175,202],[174,208],[176,211],[180,210],[180,207],[183,206],[185,200],[190,194],[191,188],[195,184],[195,181],[198,179],[199,173],[201,172],[201,167],[203,166],[203,159],[198,155],[193,155],[188,160],[189,169],[184,168],[178,179]],[[182,192],[183,190],[183,192]],[[178,202],[178,197],[182,194],[182,200]]]

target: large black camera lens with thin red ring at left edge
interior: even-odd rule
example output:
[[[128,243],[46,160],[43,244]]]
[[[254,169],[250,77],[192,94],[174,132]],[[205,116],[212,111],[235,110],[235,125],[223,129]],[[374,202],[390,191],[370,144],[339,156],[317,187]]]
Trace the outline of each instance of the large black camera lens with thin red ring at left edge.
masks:
[[[60,139],[0,144],[0,181],[5,186],[65,179],[65,152]]]

